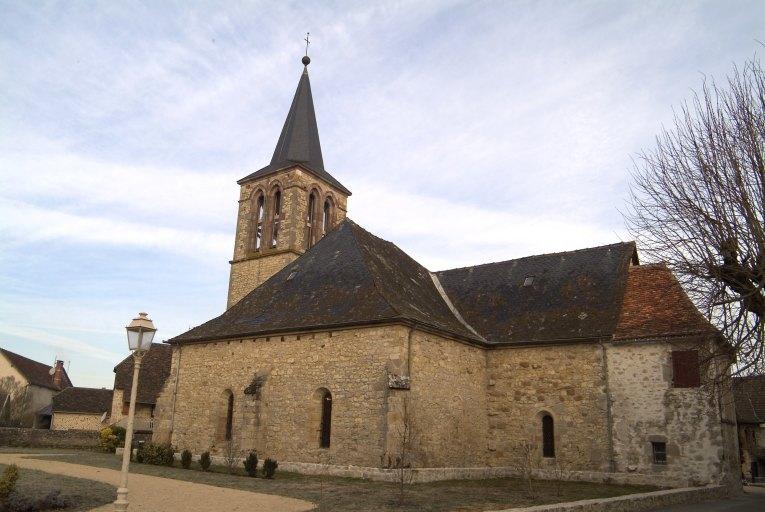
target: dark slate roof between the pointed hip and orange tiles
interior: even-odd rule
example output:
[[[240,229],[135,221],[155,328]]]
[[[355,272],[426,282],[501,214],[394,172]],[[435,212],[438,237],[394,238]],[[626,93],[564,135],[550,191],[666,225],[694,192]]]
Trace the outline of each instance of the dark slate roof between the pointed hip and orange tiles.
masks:
[[[462,317],[493,343],[610,336],[634,243],[437,272]],[[527,277],[532,283],[524,286]]]

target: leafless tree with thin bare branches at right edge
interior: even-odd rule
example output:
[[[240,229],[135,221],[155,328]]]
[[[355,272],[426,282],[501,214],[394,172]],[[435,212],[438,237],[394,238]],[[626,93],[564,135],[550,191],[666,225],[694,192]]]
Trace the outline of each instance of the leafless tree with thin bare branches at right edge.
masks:
[[[736,356],[765,370],[765,75],[755,57],[705,80],[635,163],[630,230],[664,261]],[[727,369],[716,377],[727,373]]]

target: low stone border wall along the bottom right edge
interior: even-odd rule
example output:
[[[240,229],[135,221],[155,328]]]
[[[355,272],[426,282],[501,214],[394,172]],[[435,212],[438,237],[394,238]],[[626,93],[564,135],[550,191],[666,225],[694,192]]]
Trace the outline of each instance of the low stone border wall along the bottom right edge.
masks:
[[[724,498],[725,496],[727,496],[725,487],[714,485],[628,494],[626,496],[597,500],[537,505],[526,508],[508,508],[495,512],[642,512],[671,505],[699,503],[711,499]]]

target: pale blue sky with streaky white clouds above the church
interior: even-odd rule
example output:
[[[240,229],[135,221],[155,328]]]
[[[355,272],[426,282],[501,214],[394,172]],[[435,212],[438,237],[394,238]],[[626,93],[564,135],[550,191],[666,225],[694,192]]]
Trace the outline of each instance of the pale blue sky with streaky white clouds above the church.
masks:
[[[633,159],[763,1],[0,0],[0,346],[111,387],[223,312],[236,180],[309,66],[349,217],[430,270],[626,241]]]

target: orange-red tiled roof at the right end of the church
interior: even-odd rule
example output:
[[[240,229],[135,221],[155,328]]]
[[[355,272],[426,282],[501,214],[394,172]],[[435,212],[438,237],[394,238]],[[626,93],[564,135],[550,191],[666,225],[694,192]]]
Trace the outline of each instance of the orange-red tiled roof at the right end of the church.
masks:
[[[630,267],[615,339],[716,332],[665,265]]]

